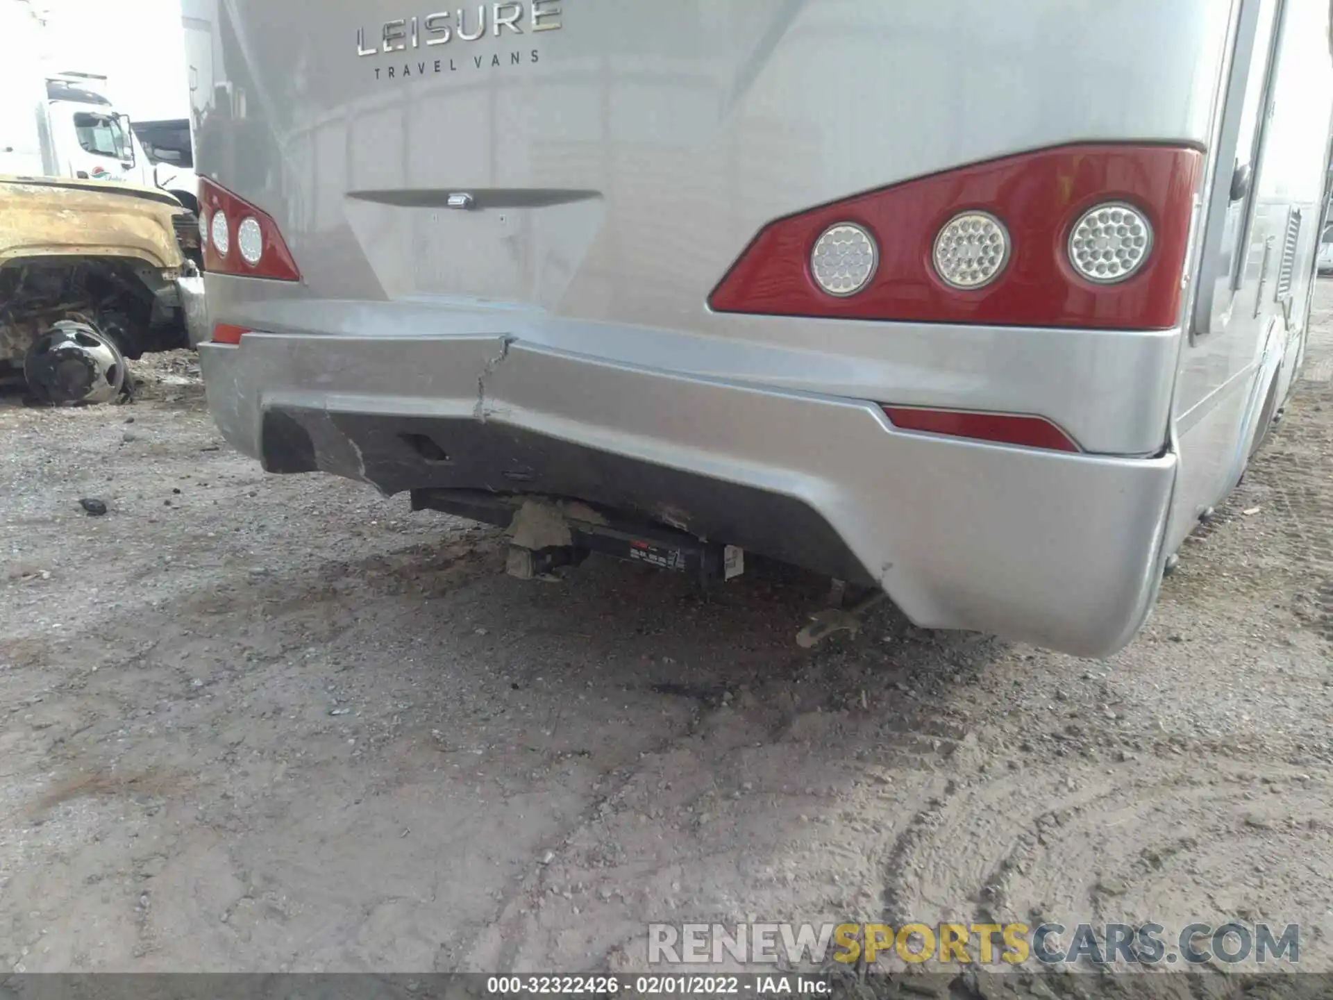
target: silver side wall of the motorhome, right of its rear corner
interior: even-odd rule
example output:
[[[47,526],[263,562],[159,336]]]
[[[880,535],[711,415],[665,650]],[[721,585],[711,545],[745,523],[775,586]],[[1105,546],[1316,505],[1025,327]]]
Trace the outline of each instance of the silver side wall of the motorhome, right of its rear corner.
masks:
[[[1182,348],[1173,427],[1181,455],[1168,547],[1236,485],[1252,445],[1292,383],[1306,333],[1328,176],[1333,60],[1328,0],[1245,0],[1257,13],[1238,101],[1225,108],[1228,148],[1214,144],[1214,204],[1229,217],[1200,232],[1197,273],[1233,261],[1197,293],[1204,308]],[[1232,120],[1233,128],[1226,123]],[[1249,167],[1232,199],[1232,164]],[[1206,301],[1216,296],[1216,301]]]

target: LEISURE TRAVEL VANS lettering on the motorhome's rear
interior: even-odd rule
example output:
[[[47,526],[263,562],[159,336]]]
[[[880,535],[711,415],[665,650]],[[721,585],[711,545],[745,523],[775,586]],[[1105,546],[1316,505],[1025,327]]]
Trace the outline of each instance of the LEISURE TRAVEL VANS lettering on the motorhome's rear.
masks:
[[[413,80],[463,69],[499,69],[540,61],[537,49],[505,49],[472,55],[459,52],[469,41],[517,40],[559,31],[564,25],[560,0],[477,4],[475,8],[396,17],[379,29],[356,29],[356,55],[375,60],[376,80]],[[448,45],[449,48],[441,48]],[[427,59],[425,56],[429,56]]]

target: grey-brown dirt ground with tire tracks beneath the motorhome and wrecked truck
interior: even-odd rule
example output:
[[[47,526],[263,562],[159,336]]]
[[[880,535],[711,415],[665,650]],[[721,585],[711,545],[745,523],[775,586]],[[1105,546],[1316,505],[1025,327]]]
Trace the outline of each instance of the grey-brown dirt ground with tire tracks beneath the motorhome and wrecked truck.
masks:
[[[1333,288],[1130,648],[701,593],[231,451],[189,355],[0,405],[0,972],[639,969],[649,921],[1272,920],[1333,968]],[[100,499],[89,516],[80,499]]]

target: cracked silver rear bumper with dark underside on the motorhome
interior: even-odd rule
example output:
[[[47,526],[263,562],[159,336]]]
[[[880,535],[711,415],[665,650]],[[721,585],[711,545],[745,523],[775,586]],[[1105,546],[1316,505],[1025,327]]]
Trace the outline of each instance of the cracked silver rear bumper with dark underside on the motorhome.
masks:
[[[922,627],[1084,656],[1156,597],[1174,455],[904,433],[865,401],[505,336],[249,333],[200,357],[217,425],[269,471],[577,496],[878,581]]]

